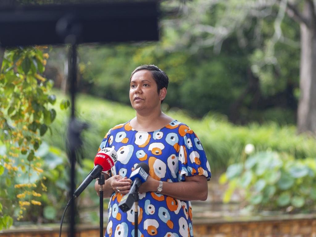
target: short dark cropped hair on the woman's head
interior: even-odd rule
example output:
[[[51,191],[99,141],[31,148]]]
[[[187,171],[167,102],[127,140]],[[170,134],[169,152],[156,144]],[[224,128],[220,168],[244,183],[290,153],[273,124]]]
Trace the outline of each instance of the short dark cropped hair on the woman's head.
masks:
[[[131,74],[131,77],[130,77],[130,82],[131,82],[131,79],[132,79],[132,76],[140,71],[140,70],[149,70],[151,72],[151,75],[153,76],[156,84],[157,84],[157,91],[159,93],[159,91],[162,89],[162,88],[168,88],[168,84],[169,84],[169,78],[167,76],[167,74],[159,69],[157,66],[155,65],[141,65],[139,67],[137,67]],[[161,103],[162,103],[163,100],[161,100]]]

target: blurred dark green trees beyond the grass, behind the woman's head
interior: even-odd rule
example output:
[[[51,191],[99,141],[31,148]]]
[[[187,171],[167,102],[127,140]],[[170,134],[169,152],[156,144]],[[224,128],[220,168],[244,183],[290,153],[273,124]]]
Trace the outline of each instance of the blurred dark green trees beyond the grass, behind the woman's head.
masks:
[[[274,3],[261,10],[256,4],[166,1],[162,9],[176,8],[178,14],[164,15],[159,42],[79,47],[79,90],[129,104],[131,72],[140,64],[156,64],[170,78],[167,107],[188,109],[198,118],[210,111],[226,114],[241,124],[295,124],[299,24],[286,14],[279,19]],[[52,65],[62,61],[60,53],[54,58]]]

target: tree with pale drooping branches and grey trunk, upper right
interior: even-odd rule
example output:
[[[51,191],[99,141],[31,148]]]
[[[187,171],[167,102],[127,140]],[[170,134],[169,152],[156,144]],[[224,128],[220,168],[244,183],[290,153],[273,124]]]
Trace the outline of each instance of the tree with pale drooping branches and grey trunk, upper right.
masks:
[[[219,53],[225,41],[235,34],[240,48],[255,46],[256,50],[249,58],[251,71],[258,76],[260,85],[266,87],[266,91],[270,88],[272,92],[278,91],[282,87],[294,90],[291,79],[279,83],[276,78],[291,72],[286,68],[291,66],[289,61],[292,58],[284,60],[284,56],[291,53],[286,51],[299,52],[301,48],[300,70],[294,74],[300,79],[298,132],[316,132],[315,1],[199,0],[187,3],[181,17],[181,21],[175,19],[168,24],[177,27],[178,32],[191,30],[183,35],[183,40],[170,44],[174,50],[189,46],[189,50],[197,51],[213,46],[214,52]],[[292,20],[289,21],[289,18]],[[300,29],[300,35],[296,33],[299,32],[295,31],[296,28]],[[252,39],[247,37],[251,29],[254,33]],[[278,55],[279,50],[283,50],[282,56]],[[297,65],[299,62],[294,60],[294,63]]]

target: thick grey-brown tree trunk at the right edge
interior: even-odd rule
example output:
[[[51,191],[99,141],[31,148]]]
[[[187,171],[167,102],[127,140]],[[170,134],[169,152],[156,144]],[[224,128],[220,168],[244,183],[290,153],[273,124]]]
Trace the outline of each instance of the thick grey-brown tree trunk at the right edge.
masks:
[[[301,96],[297,110],[297,131],[316,134],[316,22],[311,1],[305,1],[302,12],[308,25],[301,23]]]

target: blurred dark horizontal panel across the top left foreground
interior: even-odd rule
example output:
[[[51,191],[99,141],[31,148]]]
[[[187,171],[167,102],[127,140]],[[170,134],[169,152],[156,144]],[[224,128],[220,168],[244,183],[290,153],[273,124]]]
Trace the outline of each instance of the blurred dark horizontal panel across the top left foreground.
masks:
[[[0,45],[158,40],[158,14],[157,1],[2,0]]]

